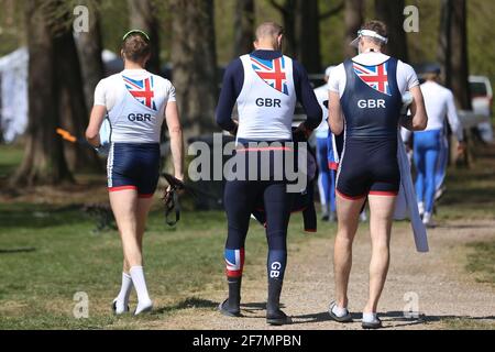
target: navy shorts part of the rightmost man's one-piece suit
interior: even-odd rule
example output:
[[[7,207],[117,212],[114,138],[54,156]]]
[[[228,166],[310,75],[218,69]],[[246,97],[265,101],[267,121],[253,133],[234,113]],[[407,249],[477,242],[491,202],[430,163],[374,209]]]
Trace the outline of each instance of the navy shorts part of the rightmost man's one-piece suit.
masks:
[[[345,140],[337,174],[337,193],[341,197],[396,196],[399,186],[396,139]]]

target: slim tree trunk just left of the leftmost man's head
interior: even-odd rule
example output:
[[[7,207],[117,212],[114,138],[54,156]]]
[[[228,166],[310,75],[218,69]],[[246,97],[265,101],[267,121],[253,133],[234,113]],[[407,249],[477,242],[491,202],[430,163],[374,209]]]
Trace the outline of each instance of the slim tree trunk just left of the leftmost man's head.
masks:
[[[96,1],[98,6],[101,2],[100,0]],[[91,3],[91,1],[89,1],[89,3]],[[91,21],[89,21],[89,32],[78,34],[76,41],[84,77],[87,111],[91,110],[95,98],[95,88],[105,76],[105,66],[101,58],[103,44],[101,40],[101,18],[99,9],[90,7],[89,16],[91,19]]]

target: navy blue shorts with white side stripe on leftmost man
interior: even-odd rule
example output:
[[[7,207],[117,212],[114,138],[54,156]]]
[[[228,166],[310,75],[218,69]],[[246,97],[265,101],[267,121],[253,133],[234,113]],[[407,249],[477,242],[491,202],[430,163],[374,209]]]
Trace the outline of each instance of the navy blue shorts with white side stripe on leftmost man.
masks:
[[[160,144],[112,143],[107,176],[110,191],[136,189],[140,198],[153,197],[160,177]]]

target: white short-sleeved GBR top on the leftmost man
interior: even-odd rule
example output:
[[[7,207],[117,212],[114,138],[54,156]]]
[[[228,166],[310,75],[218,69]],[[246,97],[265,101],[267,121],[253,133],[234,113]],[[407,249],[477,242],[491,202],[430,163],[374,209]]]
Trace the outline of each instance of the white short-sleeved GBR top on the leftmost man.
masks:
[[[117,143],[158,143],[168,101],[175,101],[170,81],[144,69],[105,78],[95,90],[95,105],[107,107]]]

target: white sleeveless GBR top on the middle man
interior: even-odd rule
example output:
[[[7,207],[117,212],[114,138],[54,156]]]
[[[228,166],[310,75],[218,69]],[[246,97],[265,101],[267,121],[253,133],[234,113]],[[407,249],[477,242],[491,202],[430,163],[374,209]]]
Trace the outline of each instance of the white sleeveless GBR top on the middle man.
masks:
[[[254,141],[292,140],[296,107],[293,61],[241,56],[244,84],[238,97],[238,139]]]

